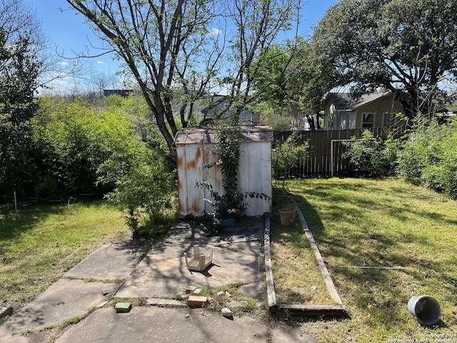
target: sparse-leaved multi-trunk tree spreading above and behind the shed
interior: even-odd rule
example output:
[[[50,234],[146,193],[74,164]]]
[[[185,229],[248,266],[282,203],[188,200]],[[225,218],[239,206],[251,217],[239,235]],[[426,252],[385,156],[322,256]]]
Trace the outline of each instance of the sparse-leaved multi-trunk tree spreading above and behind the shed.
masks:
[[[288,29],[299,0],[67,0],[134,76],[174,156],[192,105],[226,90],[238,113],[253,102],[253,64]],[[179,90],[179,91],[178,91]],[[227,109],[229,111],[229,109]]]

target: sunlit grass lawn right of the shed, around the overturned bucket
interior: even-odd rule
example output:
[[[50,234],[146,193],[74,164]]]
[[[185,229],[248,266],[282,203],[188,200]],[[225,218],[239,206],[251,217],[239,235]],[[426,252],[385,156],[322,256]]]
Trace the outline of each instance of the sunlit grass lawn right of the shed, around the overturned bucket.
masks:
[[[309,290],[323,286],[316,264],[309,262],[313,255],[301,227],[278,224],[278,207],[293,204],[313,232],[350,315],[303,321],[303,332],[316,342],[420,342],[429,334],[446,338],[457,333],[455,200],[396,179],[301,179],[286,187],[292,194],[273,192],[272,254],[276,260],[286,256],[274,271],[278,299],[328,302]],[[275,251],[278,246],[282,250]],[[357,268],[362,266],[403,269]],[[408,312],[408,299],[419,294],[431,295],[441,305],[441,321],[433,327],[422,327]],[[448,339],[457,342],[457,337]]]

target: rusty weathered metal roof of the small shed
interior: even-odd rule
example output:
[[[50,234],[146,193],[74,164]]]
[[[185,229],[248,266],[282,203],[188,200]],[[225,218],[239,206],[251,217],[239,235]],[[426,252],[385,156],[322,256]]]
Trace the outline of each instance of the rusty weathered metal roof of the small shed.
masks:
[[[273,141],[271,125],[241,126],[240,139],[243,142]],[[178,131],[174,144],[211,144],[216,143],[214,127],[188,127]]]

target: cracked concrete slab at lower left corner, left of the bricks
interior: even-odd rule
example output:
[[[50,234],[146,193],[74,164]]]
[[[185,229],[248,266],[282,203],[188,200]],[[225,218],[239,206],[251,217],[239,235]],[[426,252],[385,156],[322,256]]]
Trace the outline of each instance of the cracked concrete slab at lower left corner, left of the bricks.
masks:
[[[101,289],[108,285],[101,282],[59,279],[34,302],[9,317],[0,327],[0,338],[2,334],[49,327],[72,317],[83,316],[103,301]]]

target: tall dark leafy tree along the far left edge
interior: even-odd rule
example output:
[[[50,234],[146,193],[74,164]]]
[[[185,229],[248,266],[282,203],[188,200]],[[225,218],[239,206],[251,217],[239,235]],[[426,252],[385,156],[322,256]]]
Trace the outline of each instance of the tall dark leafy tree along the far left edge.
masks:
[[[1,204],[10,202],[14,192],[18,197],[28,195],[35,182],[35,149],[30,121],[36,114],[35,92],[39,87],[41,62],[36,58],[31,36],[26,32],[6,31],[11,26],[7,14],[0,21],[6,25],[0,26]]]

